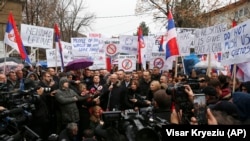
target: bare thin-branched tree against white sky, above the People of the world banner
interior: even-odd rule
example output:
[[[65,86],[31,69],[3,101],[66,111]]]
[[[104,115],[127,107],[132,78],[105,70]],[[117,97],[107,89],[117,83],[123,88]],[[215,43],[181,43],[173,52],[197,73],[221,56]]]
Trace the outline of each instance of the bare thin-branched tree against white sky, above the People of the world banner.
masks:
[[[58,24],[63,31],[62,39],[70,42],[71,37],[77,37],[79,32],[84,29],[91,29],[91,23],[94,22],[93,13],[85,13],[84,1],[78,0],[61,0],[56,13]],[[85,13],[85,14],[84,14]],[[79,16],[81,14],[81,16]]]

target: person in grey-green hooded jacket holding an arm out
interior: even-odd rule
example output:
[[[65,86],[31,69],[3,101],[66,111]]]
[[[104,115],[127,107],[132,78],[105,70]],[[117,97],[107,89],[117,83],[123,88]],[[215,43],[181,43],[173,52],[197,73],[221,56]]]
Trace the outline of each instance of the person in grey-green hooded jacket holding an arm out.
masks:
[[[67,83],[67,78],[61,78],[59,81],[59,89],[55,95],[56,101],[59,103],[61,110],[62,124],[79,121],[79,111],[76,105],[76,101],[82,101],[89,96],[79,96],[70,88],[63,88],[63,84]],[[77,100],[74,98],[76,97]]]

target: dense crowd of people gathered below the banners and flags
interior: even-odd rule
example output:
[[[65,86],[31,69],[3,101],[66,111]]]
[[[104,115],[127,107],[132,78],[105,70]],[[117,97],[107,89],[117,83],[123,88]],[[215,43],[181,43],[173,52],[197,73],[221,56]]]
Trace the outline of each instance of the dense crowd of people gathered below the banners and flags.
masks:
[[[97,128],[105,123],[104,111],[124,111],[152,106],[155,117],[170,124],[198,124],[194,116],[180,120],[185,107],[178,106],[176,95],[170,88],[182,85],[183,92],[191,105],[195,96],[187,79],[197,80],[198,91],[206,95],[207,124],[248,124],[250,117],[250,82],[241,82],[223,74],[211,75],[178,73],[177,77],[158,67],[149,70],[106,69],[69,70],[56,72],[55,68],[24,68],[0,74],[0,83],[8,91],[33,90],[39,95],[36,110],[28,126],[42,139],[50,134],[58,134],[58,140],[66,141],[106,141],[112,140],[108,130],[103,134]],[[7,105],[0,105],[0,110]],[[189,110],[191,110],[189,109]],[[122,140],[122,137],[113,140]]]

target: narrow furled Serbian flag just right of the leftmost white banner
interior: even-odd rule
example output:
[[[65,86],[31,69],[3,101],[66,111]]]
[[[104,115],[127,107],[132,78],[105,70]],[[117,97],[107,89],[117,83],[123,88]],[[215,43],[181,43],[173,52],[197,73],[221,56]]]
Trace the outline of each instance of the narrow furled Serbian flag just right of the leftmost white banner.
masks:
[[[54,25],[55,30],[55,42],[56,42],[56,48],[59,49],[60,58],[61,58],[61,71],[63,72],[64,63],[63,63],[63,55],[62,55],[62,44],[60,39],[60,30],[58,28],[58,25]]]

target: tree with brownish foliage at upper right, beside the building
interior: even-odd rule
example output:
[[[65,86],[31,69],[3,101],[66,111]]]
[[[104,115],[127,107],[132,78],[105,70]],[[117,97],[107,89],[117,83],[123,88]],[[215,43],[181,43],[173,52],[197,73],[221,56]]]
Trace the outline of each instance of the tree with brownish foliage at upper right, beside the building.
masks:
[[[156,22],[165,24],[168,10],[171,9],[176,27],[194,28],[205,26],[208,18],[204,17],[204,13],[221,4],[219,0],[209,2],[205,5],[200,0],[137,0],[135,11],[151,12]]]

